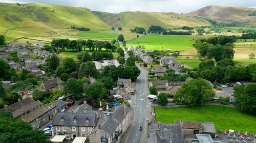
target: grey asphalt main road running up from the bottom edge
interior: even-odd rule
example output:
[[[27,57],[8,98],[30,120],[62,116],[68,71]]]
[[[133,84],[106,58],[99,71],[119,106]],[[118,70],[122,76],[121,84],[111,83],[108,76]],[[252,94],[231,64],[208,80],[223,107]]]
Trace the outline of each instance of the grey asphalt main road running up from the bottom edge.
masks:
[[[142,142],[143,136],[145,135],[146,104],[150,102],[150,100],[147,98],[148,88],[146,71],[141,67],[139,67],[139,69],[141,70],[141,73],[138,76],[136,97],[134,99],[134,105],[136,106],[135,116],[132,115],[132,118],[135,118],[135,120],[130,135],[127,138],[127,143]],[[142,126],[142,131],[139,130],[140,126]]]

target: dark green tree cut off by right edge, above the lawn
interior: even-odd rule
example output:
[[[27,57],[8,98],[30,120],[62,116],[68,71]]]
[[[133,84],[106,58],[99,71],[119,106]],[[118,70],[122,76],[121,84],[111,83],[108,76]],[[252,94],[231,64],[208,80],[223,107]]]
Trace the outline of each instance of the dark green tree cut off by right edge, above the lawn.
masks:
[[[236,102],[234,105],[241,111],[256,114],[256,84],[247,84],[233,88]]]

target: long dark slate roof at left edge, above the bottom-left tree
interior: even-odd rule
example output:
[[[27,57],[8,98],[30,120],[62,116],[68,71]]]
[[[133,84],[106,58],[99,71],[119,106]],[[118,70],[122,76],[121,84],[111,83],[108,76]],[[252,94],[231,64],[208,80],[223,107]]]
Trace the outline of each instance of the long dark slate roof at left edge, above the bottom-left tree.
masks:
[[[35,101],[32,98],[29,97],[29,98],[26,98],[26,99],[24,99],[24,100],[22,100],[20,102],[18,101],[16,103],[8,105],[8,109],[3,108],[3,109],[0,109],[0,111],[8,110],[8,111],[14,112],[14,111],[16,111],[16,110],[18,110],[20,108],[23,108],[25,106],[28,106],[28,105],[30,105],[30,104],[32,104],[34,102]]]

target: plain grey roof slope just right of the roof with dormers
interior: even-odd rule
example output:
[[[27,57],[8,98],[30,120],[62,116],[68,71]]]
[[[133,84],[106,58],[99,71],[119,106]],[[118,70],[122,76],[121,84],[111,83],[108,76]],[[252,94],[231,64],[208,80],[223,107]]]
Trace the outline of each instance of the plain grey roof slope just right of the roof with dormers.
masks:
[[[117,126],[119,123],[113,119],[112,117],[106,119],[105,122],[102,123],[102,130],[108,134],[109,136],[112,136],[114,132],[116,131]]]

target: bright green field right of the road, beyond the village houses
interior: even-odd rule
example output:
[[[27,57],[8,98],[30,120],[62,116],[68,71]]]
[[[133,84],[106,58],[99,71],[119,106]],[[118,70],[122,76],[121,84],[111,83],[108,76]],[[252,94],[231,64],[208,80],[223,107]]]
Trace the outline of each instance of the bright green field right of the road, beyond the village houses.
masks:
[[[144,38],[126,42],[126,45],[144,45],[146,50],[187,50],[193,47],[196,37],[174,35],[150,35]]]

